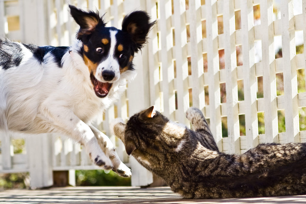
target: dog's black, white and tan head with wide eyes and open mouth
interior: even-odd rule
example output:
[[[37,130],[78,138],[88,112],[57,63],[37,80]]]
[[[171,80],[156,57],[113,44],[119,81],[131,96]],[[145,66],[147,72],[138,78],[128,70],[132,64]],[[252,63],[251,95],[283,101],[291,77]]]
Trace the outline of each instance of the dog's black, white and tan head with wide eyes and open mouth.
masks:
[[[95,94],[103,98],[120,75],[133,70],[132,60],[147,42],[153,23],[144,11],[135,11],[122,21],[122,30],[105,27],[98,12],[83,11],[69,5],[71,16],[80,30],[76,38],[82,41],[81,54],[90,72]]]

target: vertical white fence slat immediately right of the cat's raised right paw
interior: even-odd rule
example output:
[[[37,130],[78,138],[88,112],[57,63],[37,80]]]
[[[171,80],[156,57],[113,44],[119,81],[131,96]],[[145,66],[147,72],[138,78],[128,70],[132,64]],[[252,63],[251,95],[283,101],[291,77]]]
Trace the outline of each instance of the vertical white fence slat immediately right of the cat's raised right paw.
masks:
[[[190,2],[189,2],[190,3]],[[217,1],[207,0],[206,4],[206,35],[207,47],[207,66],[209,75],[209,114],[212,135],[216,140],[218,148],[222,151],[222,123],[221,123],[221,101],[219,83],[219,54],[218,54],[218,20],[217,20]],[[199,93],[200,94],[200,93]],[[196,97],[196,96],[194,96]]]

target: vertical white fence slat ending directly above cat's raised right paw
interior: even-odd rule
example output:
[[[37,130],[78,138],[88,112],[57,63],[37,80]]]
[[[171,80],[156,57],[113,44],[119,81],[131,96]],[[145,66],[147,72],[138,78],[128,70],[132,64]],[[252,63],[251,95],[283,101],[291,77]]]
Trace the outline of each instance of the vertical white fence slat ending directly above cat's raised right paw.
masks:
[[[207,7],[207,3],[206,3]],[[215,2],[215,15],[217,13],[217,4]],[[205,106],[204,77],[203,77],[203,48],[202,48],[202,23],[201,23],[201,2],[189,1],[189,20],[190,20],[190,50],[191,73],[192,73],[192,106],[203,111]],[[208,13],[207,13],[208,14]],[[217,15],[216,15],[217,18]],[[207,20],[206,20],[207,21]],[[217,22],[217,21],[216,21]],[[209,26],[209,23],[206,22]],[[218,28],[217,28],[218,34]],[[215,36],[217,37],[217,36]],[[218,50],[218,38],[215,39],[215,49]],[[209,47],[211,44],[207,44]],[[208,52],[209,53],[209,52]],[[217,53],[218,54],[218,53]],[[208,56],[208,54],[207,54]]]

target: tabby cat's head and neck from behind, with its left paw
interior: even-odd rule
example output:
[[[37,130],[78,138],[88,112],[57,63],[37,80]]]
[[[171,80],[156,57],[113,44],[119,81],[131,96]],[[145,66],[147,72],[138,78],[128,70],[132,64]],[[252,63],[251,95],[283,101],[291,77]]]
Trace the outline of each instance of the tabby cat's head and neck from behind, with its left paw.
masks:
[[[187,128],[171,122],[151,106],[130,117],[127,124],[117,119],[111,129],[125,144],[127,154],[151,169],[152,164],[166,162],[165,155],[175,156]]]

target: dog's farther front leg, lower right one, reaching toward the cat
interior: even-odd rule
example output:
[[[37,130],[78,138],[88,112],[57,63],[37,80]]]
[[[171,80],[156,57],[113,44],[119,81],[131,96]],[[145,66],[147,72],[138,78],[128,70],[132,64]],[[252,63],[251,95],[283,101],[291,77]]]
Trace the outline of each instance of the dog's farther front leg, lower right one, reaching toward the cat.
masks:
[[[116,149],[114,148],[113,143],[110,141],[110,138],[100,132],[97,128],[90,125],[89,126],[92,132],[95,134],[95,137],[98,139],[101,149],[104,151],[106,156],[110,158],[113,163],[113,171],[118,173],[118,175],[123,177],[131,176],[131,170],[120,160]]]

